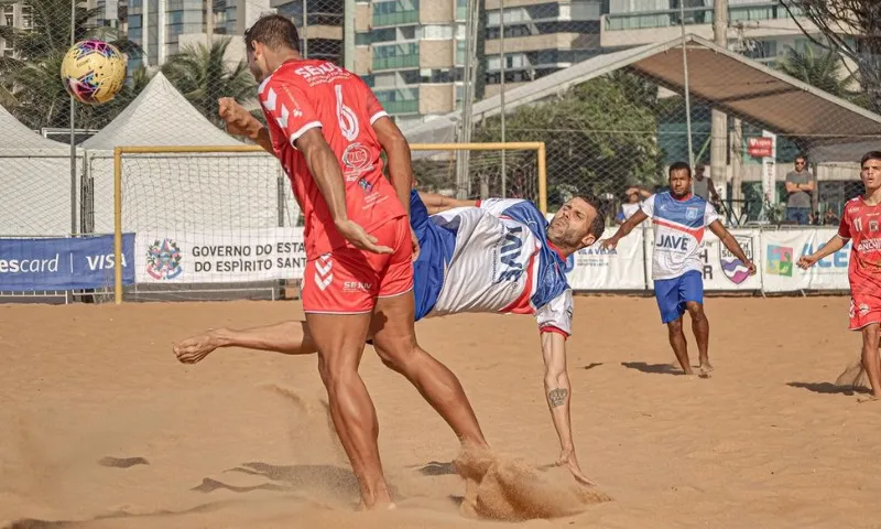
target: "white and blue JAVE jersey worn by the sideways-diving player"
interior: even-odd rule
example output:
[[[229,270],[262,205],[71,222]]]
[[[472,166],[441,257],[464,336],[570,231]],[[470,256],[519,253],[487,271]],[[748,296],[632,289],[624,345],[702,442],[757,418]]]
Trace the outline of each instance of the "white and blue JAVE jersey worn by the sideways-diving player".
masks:
[[[547,241],[547,220],[532,203],[492,198],[432,215],[431,222],[455,234],[455,246],[427,317],[534,314],[542,330],[572,334],[566,258]]]

